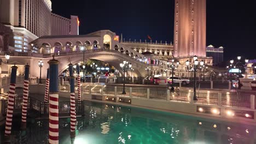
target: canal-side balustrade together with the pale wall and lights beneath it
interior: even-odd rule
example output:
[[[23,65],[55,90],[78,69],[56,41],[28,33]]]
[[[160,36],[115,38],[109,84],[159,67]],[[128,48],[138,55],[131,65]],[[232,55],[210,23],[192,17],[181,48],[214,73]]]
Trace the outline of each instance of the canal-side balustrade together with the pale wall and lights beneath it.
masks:
[[[150,89],[126,87],[108,87],[104,85],[82,86],[83,97],[88,100],[106,101],[125,105],[145,106],[161,110],[191,113],[210,117],[233,119],[239,122],[256,122],[255,95],[237,93],[197,92],[197,100],[192,91],[169,89]]]

